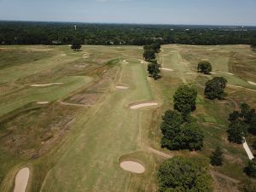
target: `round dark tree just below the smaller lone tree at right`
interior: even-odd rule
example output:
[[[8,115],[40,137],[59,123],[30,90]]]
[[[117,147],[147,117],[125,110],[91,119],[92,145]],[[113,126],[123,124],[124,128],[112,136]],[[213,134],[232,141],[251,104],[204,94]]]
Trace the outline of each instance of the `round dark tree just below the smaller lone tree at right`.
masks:
[[[222,77],[216,77],[207,81],[205,87],[205,96],[211,100],[215,98],[223,99],[226,84],[227,80]]]

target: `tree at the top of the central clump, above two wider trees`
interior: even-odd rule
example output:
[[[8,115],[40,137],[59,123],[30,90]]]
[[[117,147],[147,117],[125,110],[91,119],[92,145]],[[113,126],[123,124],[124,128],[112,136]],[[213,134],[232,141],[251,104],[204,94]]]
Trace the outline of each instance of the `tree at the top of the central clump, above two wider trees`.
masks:
[[[186,117],[189,113],[195,111],[196,97],[197,90],[194,86],[190,84],[181,85],[173,96],[174,108]]]

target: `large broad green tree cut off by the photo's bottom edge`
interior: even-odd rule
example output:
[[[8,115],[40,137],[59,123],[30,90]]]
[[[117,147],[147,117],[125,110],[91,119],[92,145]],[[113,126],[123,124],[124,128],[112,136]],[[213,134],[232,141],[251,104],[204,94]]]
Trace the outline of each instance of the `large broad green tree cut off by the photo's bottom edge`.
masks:
[[[212,177],[207,160],[173,157],[165,160],[158,173],[160,192],[211,192]]]

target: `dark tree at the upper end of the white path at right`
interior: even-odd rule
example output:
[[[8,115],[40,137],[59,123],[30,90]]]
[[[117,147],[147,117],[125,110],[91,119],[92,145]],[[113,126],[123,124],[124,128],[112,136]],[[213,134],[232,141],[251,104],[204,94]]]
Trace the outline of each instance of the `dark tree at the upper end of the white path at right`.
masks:
[[[230,142],[241,144],[247,135],[247,125],[241,120],[235,120],[230,123],[227,132]]]

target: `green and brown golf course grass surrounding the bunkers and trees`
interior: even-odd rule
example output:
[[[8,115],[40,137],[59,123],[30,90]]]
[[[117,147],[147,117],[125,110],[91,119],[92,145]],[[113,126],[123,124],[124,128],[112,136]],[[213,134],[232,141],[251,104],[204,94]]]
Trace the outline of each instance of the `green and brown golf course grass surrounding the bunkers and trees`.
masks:
[[[247,83],[256,82],[252,55],[247,45],[163,45],[158,61],[173,71],[162,70],[155,81],[140,61],[142,47],[84,45],[75,52],[69,46],[0,46],[0,191],[12,192],[16,173],[27,166],[26,192],[156,192],[157,170],[168,155],[209,157],[217,146],[224,148],[224,166],[211,169],[242,181],[247,154],[227,141],[226,130],[237,104],[256,108],[256,85]],[[197,73],[199,61],[210,61],[213,73]],[[204,84],[217,76],[235,86],[226,88],[226,100],[209,101]],[[31,86],[50,83],[63,84]],[[201,151],[160,147],[161,116],[180,84],[198,90],[192,115],[206,137]],[[159,105],[130,108],[143,102]],[[146,171],[125,172],[123,160]],[[216,189],[236,191],[229,179],[214,178]]]

